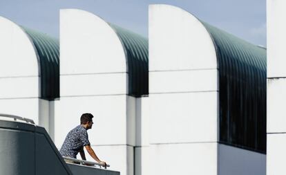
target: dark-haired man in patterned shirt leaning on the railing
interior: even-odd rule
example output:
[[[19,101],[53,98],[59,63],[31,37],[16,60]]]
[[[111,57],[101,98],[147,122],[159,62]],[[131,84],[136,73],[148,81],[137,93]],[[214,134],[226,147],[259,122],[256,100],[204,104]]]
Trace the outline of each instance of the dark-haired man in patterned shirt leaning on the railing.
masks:
[[[88,151],[88,154],[96,160],[98,163],[106,167],[106,163],[96,156],[95,151],[90,147],[88,140],[87,130],[93,127],[93,115],[91,113],[84,113],[80,118],[80,125],[72,129],[66,139],[64,140],[59,153],[61,156],[67,156],[70,158],[76,158],[79,153],[82,156],[82,160],[86,160],[84,154],[84,147]]]

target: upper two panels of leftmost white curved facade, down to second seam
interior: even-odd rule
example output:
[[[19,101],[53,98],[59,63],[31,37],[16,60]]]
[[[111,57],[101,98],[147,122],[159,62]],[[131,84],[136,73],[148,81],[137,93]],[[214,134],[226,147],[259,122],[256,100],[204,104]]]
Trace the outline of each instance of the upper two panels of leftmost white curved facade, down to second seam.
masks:
[[[38,98],[37,51],[20,26],[0,17],[0,99]]]

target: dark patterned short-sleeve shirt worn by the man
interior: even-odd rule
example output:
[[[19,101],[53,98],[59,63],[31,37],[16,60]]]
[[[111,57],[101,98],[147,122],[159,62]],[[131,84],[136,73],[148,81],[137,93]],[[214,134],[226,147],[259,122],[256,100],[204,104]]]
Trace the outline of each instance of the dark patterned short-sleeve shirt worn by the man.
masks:
[[[82,125],[79,125],[68,133],[59,153],[61,156],[76,158],[79,151],[86,145],[90,145],[88,133]]]

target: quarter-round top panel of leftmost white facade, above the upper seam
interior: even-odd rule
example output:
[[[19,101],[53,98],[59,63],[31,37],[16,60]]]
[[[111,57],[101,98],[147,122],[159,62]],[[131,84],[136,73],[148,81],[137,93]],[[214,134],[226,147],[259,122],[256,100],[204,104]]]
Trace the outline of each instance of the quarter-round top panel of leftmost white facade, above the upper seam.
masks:
[[[28,35],[0,17],[0,77],[38,76],[37,54]]]

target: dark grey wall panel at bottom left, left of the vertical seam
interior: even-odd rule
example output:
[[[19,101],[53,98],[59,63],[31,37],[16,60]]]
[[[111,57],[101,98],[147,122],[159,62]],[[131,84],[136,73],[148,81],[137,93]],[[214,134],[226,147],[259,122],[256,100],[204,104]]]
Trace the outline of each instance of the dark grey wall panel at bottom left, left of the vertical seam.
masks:
[[[0,174],[35,175],[34,150],[33,132],[0,127]]]

